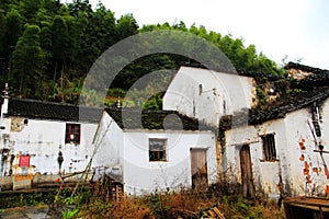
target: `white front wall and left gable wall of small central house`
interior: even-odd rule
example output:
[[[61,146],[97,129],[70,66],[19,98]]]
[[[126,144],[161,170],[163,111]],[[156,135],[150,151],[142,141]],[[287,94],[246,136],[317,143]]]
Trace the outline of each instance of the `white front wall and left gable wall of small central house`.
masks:
[[[149,138],[167,139],[167,161],[149,161]],[[106,166],[105,172],[112,176],[123,174],[126,194],[141,195],[157,189],[191,187],[191,148],[208,148],[208,182],[217,181],[215,135],[212,131],[122,130],[104,113],[94,146],[99,146],[99,149],[93,166]]]

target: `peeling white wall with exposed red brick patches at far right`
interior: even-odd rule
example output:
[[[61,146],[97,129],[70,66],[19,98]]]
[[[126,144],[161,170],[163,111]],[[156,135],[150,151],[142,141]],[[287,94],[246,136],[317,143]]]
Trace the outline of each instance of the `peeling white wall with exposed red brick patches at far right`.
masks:
[[[322,105],[322,137],[325,150],[328,151],[328,101]],[[290,151],[290,168],[293,195],[319,195],[329,185],[325,173],[325,165],[319,153],[314,152],[318,147],[311,134],[311,110],[304,108],[286,116],[287,149]],[[310,122],[310,124],[308,124]],[[310,125],[310,126],[309,126]],[[329,163],[329,154],[324,153],[325,162]]]

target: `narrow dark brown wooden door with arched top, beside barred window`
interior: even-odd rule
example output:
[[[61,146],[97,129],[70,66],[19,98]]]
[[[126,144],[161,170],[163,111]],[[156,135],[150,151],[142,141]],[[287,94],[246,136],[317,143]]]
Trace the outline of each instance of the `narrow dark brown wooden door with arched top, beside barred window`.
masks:
[[[242,146],[240,150],[240,166],[241,166],[241,181],[243,197],[254,197],[254,186],[252,178],[252,166],[250,157],[250,147]]]

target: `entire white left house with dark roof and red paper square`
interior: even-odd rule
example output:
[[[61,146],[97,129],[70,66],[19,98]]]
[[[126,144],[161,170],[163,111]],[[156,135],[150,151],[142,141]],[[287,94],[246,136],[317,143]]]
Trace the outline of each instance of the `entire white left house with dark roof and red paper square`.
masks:
[[[58,174],[84,171],[92,136],[101,116],[97,108],[9,97],[1,108],[1,187],[31,187]],[[24,181],[24,182],[21,182]]]

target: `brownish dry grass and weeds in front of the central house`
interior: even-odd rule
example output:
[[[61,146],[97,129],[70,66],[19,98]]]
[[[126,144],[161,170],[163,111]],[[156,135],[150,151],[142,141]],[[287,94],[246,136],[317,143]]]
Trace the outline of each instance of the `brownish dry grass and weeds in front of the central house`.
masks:
[[[276,203],[246,200],[241,196],[214,197],[189,191],[123,197],[120,200],[91,198],[79,214],[81,218],[201,218],[209,217],[214,208],[227,218],[277,218],[284,214]]]

